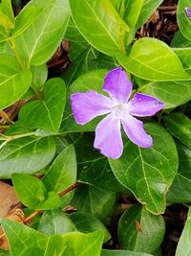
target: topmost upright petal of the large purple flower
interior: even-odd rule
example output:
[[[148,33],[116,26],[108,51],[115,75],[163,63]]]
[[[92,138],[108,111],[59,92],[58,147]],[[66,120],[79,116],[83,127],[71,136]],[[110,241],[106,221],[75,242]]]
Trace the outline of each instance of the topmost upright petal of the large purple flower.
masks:
[[[126,72],[121,67],[117,67],[107,74],[102,89],[117,103],[126,104],[132,88],[133,84],[128,80]]]

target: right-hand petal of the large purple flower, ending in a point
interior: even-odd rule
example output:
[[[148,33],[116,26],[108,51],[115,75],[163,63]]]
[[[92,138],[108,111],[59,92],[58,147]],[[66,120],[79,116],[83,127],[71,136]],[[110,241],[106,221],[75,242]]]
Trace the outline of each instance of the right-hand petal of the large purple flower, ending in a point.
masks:
[[[163,107],[164,104],[158,99],[141,93],[136,93],[127,105],[129,113],[134,116],[152,116]]]

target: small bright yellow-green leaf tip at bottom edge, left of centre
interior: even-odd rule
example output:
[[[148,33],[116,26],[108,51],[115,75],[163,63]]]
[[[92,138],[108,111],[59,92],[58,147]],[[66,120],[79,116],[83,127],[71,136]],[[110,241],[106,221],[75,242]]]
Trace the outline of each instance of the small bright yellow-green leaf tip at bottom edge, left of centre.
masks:
[[[44,256],[64,256],[66,247],[61,236],[53,235],[48,240]]]

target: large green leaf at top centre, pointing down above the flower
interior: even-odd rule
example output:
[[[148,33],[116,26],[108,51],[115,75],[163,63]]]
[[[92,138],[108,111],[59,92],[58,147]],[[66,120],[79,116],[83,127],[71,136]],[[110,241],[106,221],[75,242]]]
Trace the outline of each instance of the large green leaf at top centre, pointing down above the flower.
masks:
[[[88,0],[70,0],[74,23],[79,32],[97,50],[113,56],[121,49],[120,30],[123,28],[117,12],[107,4],[108,1],[102,0],[92,0],[91,3]]]

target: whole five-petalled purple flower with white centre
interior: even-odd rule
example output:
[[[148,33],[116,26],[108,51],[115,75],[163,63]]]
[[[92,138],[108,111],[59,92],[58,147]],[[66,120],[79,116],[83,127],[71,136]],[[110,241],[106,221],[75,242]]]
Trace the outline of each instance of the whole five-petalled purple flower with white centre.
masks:
[[[94,147],[102,154],[117,159],[123,151],[121,124],[128,138],[142,148],[153,146],[153,140],[143,128],[143,123],[134,116],[152,116],[164,104],[158,99],[136,93],[129,100],[133,84],[121,67],[110,71],[103,84],[106,97],[94,90],[71,95],[75,122],[85,125],[97,116],[108,114],[96,127]]]

